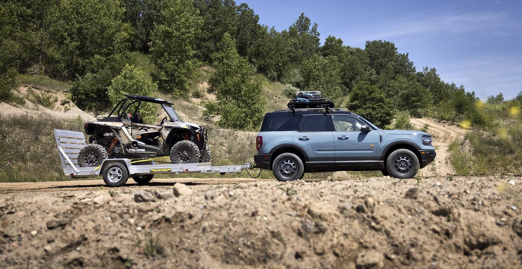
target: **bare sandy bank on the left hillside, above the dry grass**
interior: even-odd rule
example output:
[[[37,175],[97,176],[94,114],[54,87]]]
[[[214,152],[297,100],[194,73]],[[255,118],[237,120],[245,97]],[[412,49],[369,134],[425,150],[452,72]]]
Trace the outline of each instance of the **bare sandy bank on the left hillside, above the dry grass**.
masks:
[[[34,88],[29,85],[20,86],[16,93],[23,100],[20,107],[6,103],[0,103],[0,111],[4,115],[39,115],[48,114],[53,118],[73,119],[81,117],[84,121],[93,121],[95,118],[82,111],[66,94],[61,91],[53,91],[45,88]],[[45,105],[45,106],[44,106]]]

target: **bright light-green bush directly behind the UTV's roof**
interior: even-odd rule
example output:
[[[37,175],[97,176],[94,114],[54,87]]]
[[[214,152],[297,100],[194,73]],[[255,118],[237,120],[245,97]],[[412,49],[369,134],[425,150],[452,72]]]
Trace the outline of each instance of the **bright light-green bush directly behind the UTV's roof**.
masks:
[[[120,102],[123,94],[135,94],[143,96],[155,96],[158,91],[158,85],[152,82],[152,79],[144,71],[134,67],[133,65],[126,65],[121,74],[111,81],[107,93],[109,100],[113,105]],[[141,118],[144,123],[153,124],[156,121],[156,114],[158,105],[154,103],[141,103],[139,107]]]

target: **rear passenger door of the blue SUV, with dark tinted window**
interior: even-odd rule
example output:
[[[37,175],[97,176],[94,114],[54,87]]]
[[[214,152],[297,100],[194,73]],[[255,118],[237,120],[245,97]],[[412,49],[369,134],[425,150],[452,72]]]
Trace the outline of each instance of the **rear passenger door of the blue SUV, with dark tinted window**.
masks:
[[[334,136],[327,114],[303,115],[292,135],[292,142],[308,155],[307,168],[335,166]]]

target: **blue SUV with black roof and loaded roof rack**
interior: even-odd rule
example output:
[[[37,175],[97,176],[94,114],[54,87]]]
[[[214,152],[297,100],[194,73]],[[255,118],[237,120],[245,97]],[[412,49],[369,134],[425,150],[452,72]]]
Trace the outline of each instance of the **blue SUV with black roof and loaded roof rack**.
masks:
[[[435,158],[428,133],[381,130],[355,113],[330,108],[334,105],[328,99],[296,95],[288,110],[265,115],[256,138],[256,165],[272,170],[279,181],[342,170],[412,178]]]

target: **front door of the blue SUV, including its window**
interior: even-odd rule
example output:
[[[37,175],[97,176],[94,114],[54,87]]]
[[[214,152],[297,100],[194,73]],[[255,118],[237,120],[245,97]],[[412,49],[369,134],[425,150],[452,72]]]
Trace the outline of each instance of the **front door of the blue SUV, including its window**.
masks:
[[[362,132],[363,121],[351,115],[331,115],[334,123],[337,167],[365,169],[378,167],[381,136],[378,131]]]

